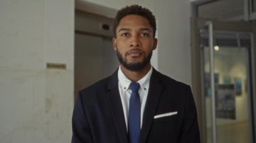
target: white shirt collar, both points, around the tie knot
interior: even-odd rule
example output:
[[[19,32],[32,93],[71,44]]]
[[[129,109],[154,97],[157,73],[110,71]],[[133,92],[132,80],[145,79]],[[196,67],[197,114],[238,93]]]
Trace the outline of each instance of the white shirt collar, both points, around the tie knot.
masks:
[[[144,77],[139,79],[139,81],[137,81],[137,83],[139,83],[140,88],[143,89],[143,91],[148,90],[148,88],[150,87],[150,77],[151,77],[151,75],[152,75],[152,66],[151,66],[150,70],[148,71],[148,73]],[[120,83],[121,88],[123,89],[123,91],[127,91],[127,89],[129,89],[129,85],[131,83],[131,80],[129,80],[125,76],[125,74],[121,70],[120,66],[119,66],[119,70],[118,70],[118,79],[119,79],[119,83]]]

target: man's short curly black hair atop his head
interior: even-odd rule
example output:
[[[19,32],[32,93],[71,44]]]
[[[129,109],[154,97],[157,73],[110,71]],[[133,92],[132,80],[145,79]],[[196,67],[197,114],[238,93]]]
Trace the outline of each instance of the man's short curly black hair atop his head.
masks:
[[[121,19],[127,15],[139,15],[148,19],[150,26],[152,26],[153,28],[153,36],[156,36],[156,17],[155,15],[153,15],[150,9],[147,9],[146,7],[141,7],[140,5],[127,5],[126,7],[123,7],[122,9],[117,11],[117,15],[115,16],[113,29],[115,37],[117,36],[117,26],[119,26]]]

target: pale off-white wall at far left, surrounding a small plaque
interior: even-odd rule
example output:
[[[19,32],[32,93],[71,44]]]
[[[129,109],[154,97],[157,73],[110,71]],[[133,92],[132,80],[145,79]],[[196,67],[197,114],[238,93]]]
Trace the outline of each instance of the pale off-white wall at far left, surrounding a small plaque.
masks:
[[[0,1],[0,142],[70,142],[73,7],[70,0]]]

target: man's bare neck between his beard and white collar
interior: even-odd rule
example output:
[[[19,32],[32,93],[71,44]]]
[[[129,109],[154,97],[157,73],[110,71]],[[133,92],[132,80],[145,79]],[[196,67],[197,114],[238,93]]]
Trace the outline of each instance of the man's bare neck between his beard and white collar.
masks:
[[[149,63],[145,68],[143,68],[142,70],[139,71],[131,71],[128,70],[127,68],[125,68],[122,64],[121,64],[121,70],[123,71],[123,73],[125,74],[125,76],[131,80],[132,82],[137,82],[139,81],[139,79],[142,79],[142,77],[144,77],[148,71],[150,71],[151,68],[151,64]]]

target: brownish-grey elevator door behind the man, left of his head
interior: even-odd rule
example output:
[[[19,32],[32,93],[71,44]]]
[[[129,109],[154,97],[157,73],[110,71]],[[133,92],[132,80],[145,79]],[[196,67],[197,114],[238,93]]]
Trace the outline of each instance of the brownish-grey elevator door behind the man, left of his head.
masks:
[[[75,11],[75,95],[117,70],[112,22],[107,17]]]

